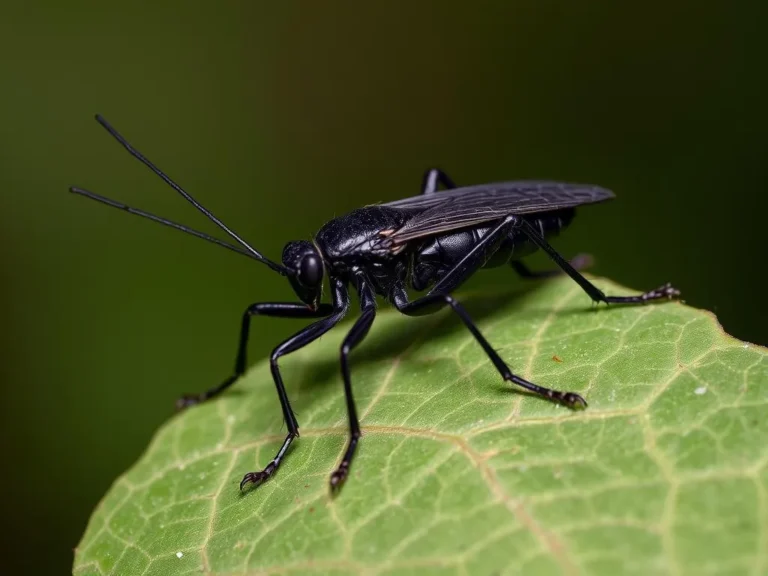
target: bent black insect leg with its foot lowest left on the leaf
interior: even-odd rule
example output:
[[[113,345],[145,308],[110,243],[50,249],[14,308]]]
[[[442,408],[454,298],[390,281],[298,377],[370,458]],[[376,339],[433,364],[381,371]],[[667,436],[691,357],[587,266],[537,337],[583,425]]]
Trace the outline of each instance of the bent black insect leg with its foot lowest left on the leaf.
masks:
[[[315,322],[314,324],[310,324],[304,328],[304,330],[294,334],[288,338],[288,340],[275,348],[275,350],[272,352],[272,355],[270,356],[269,367],[272,371],[272,378],[275,381],[277,395],[280,398],[280,406],[283,410],[283,419],[285,420],[286,428],[288,428],[288,433],[286,434],[285,440],[283,440],[283,444],[280,446],[280,449],[277,451],[275,457],[269,462],[269,464],[267,464],[263,470],[258,472],[248,472],[245,476],[243,476],[243,479],[240,481],[240,490],[242,490],[247,484],[254,484],[258,486],[267,480],[270,476],[272,476],[275,470],[277,470],[277,467],[280,466],[280,462],[282,462],[283,458],[285,457],[289,446],[299,435],[299,423],[296,421],[296,416],[294,415],[293,409],[291,408],[291,405],[288,401],[288,395],[285,391],[285,385],[283,384],[283,378],[280,375],[280,368],[277,362],[282,356],[290,354],[291,352],[295,352],[310,342],[317,340],[320,336],[328,332],[328,330],[336,326],[336,324],[338,324],[339,321],[341,321],[341,319],[344,317],[347,309],[349,308],[349,293],[347,292],[346,286],[341,281],[335,280],[332,282],[332,284],[334,289],[333,314],[327,318],[323,318],[322,320]]]

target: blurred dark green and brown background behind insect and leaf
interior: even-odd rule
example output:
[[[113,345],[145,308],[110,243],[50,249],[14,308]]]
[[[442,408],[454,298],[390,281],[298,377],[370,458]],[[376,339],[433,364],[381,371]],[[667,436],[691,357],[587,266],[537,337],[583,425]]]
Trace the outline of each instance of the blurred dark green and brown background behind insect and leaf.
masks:
[[[565,253],[636,288],[673,280],[766,343],[759,4],[5,6],[4,570],[66,572],[179,393],[229,373],[244,306],[289,296],[258,264],[67,194],[212,230],[94,112],[273,257],[334,215],[415,194],[433,164],[461,184],[604,185],[618,199],[580,214]],[[260,320],[253,358],[296,328]]]

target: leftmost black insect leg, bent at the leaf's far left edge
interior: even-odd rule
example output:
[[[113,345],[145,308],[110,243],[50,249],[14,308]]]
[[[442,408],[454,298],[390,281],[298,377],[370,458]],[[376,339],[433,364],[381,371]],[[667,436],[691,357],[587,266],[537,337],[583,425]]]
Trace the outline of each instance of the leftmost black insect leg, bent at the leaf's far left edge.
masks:
[[[333,313],[330,304],[321,304],[317,310],[310,309],[306,304],[294,302],[259,302],[251,304],[243,312],[240,325],[240,343],[237,347],[235,359],[235,371],[218,386],[206,390],[200,394],[185,394],[176,402],[178,410],[194,406],[213,398],[232,386],[235,381],[245,373],[247,368],[248,336],[250,333],[251,319],[254,316],[273,316],[277,318],[323,318]]]

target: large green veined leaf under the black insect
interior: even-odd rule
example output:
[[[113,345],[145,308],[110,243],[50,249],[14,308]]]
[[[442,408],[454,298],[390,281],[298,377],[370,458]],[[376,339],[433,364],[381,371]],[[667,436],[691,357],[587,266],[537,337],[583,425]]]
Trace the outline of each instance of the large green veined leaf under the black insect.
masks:
[[[94,512],[75,573],[768,570],[765,349],[676,302],[595,309],[567,278],[462,301],[514,371],[589,408],[504,383],[449,311],[384,308],[352,355],[364,437],[338,497],[343,327],[282,363],[302,436],[271,480],[238,489],[284,434],[261,362],[160,429]]]

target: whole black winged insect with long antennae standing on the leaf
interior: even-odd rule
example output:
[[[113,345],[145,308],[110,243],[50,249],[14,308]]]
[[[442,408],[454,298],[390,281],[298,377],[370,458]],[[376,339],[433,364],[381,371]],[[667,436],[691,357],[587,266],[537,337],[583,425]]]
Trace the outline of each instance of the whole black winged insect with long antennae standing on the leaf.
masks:
[[[240,327],[240,344],[234,373],[210,390],[182,397],[177,402],[178,408],[193,406],[217,396],[245,372],[248,333],[253,316],[318,318],[316,322],[277,346],[270,356],[270,368],[287,434],[280,450],[266,468],[259,472],[249,472],[243,477],[240,482],[241,490],[249,483],[259,485],[272,476],[293,440],[299,436],[299,423],[291,409],[280,376],[278,360],[316,340],[341,321],[349,310],[350,284],[357,292],[361,315],[341,346],[341,373],[349,419],[349,443],[341,463],[331,474],[332,490],[337,490],[347,478],[361,435],[352,393],[349,354],[365,338],[373,324],[377,295],[384,297],[408,316],[422,316],[450,306],[485,350],[504,380],[570,408],[582,409],[587,403],[575,392],[550,390],[513,374],[451,293],[480,268],[509,264],[524,278],[539,278],[559,273],[531,271],[520,261],[520,258],[540,248],[563,272],[573,278],[594,302],[642,304],[652,300],[671,299],[680,294],[670,284],[665,284],[636,296],[606,296],[578,271],[578,268],[588,262],[588,257],[579,257],[569,262],[547,242],[546,238],[559,234],[571,223],[576,207],[613,198],[614,195],[609,190],[585,184],[546,181],[500,182],[457,188],[451,179],[438,169],[426,172],[420,196],[366,206],[335,218],[320,228],[311,241],[298,240],[286,244],[282,263],[273,262],[235,234],[133,148],[104,118],[97,115],[96,120],[131,155],[192,203],[242,248],[82,188],[70,188],[71,192],[149,218],[258,260],[286,276],[301,300],[260,302],[248,306],[243,313]],[[440,185],[447,190],[438,192]],[[330,282],[330,304],[321,302],[325,276],[328,276]],[[406,290],[408,283],[416,291],[428,289],[428,292],[411,300]]]

